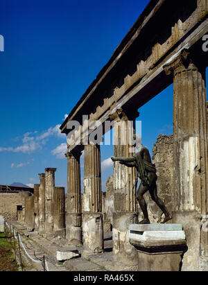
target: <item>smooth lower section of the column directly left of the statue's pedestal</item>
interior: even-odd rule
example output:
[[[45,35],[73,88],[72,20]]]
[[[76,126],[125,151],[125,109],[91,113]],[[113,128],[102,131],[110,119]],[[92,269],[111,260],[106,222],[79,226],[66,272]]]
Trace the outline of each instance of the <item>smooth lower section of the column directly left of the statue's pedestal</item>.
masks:
[[[112,218],[113,260],[127,266],[138,264],[137,250],[129,242],[129,225],[137,223],[137,212],[114,212]]]

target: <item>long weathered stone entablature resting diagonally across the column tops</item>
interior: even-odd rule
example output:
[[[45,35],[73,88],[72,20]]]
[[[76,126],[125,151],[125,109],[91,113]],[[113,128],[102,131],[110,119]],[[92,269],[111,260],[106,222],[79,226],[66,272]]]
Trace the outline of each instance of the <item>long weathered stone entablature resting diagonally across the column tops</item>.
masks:
[[[167,12],[170,10],[171,15]],[[83,114],[89,116],[89,121],[104,123],[118,108],[132,112],[132,106],[141,107],[171,84],[173,79],[164,74],[164,64],[173,60],[183,48],[189,46],[191,49],[207,33],[206,15],[206,0],[180,1],[178,5],[177,1],[150,1],[62,123],[62,132],[69,132],[67,122],[71,120],[79,121],[82,130]],[[69,150],[74,147],[70,145]]]

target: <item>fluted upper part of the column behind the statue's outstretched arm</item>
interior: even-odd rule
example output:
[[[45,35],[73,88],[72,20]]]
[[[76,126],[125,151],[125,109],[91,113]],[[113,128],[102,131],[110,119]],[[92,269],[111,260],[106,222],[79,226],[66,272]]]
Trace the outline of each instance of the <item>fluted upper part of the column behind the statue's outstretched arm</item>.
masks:
[[[131,142],[135,134],[135,119],[128,118],[123,110],[117,110],[112,119],[114,119],[114,156],[131,157],[134,153]],[[115,211],[137,211],[137,189],[134,187],[136,178],[135,168],[114,162]]]

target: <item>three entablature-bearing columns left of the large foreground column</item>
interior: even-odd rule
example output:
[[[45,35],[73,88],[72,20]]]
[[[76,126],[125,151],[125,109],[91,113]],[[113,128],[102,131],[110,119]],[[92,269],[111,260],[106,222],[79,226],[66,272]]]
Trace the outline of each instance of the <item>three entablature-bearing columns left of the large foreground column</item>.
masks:
[[[133,117],[117,110],[112,115],[114,120],[114,155],[132,156],[133,149],[129,142],[135,133],[135,121],[139,113]],[[122,134],[125,132],[125,141]],[[100,146],[85,146],[85,178],[83,181],[83,209],[80,208],[80,154],[68,152],[68,202],[66,213],[66,238],[68,243],[83,242],[83,256],[103,252],[103,214],[101,199],[101,150]],[[113,221],[114,260],[122,260],[137,264],[137,252],[128,242],[128,225],[137,222],[137,200],[135,169],[128,169],[118,162],[114,163],[114,200],[115,212]],[[81,215],[83,211],[83,216]],[[83,221],[81,220],[83,217]],[[83,230],[83,236],[82,236]],[[133,251],[133,254],[132,254]],[[129,257],[129,258],[128,258]]]

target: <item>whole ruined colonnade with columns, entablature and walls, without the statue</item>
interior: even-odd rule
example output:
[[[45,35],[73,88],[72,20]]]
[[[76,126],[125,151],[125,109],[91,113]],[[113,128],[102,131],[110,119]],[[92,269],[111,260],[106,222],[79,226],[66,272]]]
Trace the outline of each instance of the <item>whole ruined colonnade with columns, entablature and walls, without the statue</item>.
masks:
[[[102,147],[99,141],[92,144],[88,138],[98,128],[105,135],[108,122],[114,128],[116,142],[112,155],[132,156],[130,140],[135,134],[139,108],[173,83],[173,135],[160,135],[157,141],[155,138],[153,163],[158,191],[173,216],[166,225],[182,225],[186,240],[174,246],[171,241],[165,246],[155,241],[154,248],[158,252],[166,249],[165,263],[171,264],[166,270],[208,270],[208,232],[202,230],[208,217],[208,57],[202,50],[202,37],[208,33],[207,14],[207,0],[148,3],[60,127],[67,135],[67,194],[62,187],[55,187],[56,169],[45,169],[34,194],[26,195],[25,213],[19,210],[19,221],[34,225],[42,234],[62,236],[67,245],[83,244],[83,257],[102,253],[103,232],[112,230],[115,262],[137,266],[139,260],[148,259],[148,264],[149,258],[154,258],[153,252],[148,252],[147,257],[145,245],[135,246],[129,238],[129,226],[141,217],[135,168],[114,162],[103,199]],[[79,123],[75,130],[70,127],[73,121]],[[100,125],[96,126],[95,121]],[[129,121],[133,123],[129,125]],[[150,222],[159,223],[162,213],[146,195]],[[175,255],[178,252],[180,257]]]

